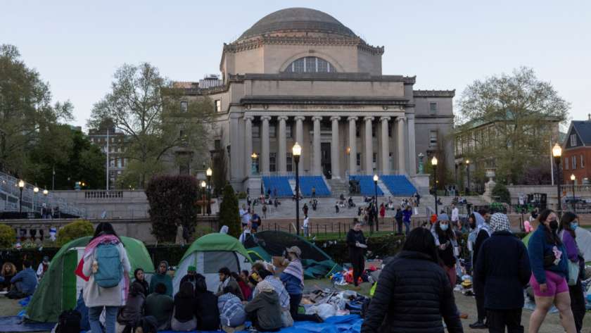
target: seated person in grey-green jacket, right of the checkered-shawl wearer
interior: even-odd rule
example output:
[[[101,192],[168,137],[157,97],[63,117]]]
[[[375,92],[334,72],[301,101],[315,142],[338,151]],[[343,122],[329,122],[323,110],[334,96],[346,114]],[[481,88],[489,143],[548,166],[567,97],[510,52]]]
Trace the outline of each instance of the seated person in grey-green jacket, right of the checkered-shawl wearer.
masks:
[[[258,282],[255,290],[257,296],[244,307],[250,322],[259,332],[278,332],[283,326],[279,296],[265,280]]]

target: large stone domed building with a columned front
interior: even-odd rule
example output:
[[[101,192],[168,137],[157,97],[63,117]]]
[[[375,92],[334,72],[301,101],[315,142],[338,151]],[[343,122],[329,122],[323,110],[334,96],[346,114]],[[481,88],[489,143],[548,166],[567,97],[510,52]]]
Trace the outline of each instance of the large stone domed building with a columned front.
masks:
[[[453,165],[444,138],[455,91],[413,90],[416,77],[383,75],[383,53],[327,13],[287,8],[224,44],[220,79],[177,84],[186,91],[184,107],[200,96],[214,101],[210,145],[227,154],[236,190],[258,194],[264,184],[265,191],[293,193],[289,177],[274,176],[295,172],[291,151],[298,142],[300,175],[317,189],[346,189],[352,176],[364,183],[362,175],[379,174],[405,176],[424,191],[419,153],[444,151]],[[397,195],[384,185],[380,193]]]

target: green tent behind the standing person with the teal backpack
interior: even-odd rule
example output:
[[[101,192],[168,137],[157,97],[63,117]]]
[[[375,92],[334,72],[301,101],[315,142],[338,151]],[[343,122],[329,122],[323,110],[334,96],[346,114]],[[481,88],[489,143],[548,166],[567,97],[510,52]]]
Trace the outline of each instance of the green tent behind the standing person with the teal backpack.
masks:
[[[75,308],[84,280],[77,277],[74,271],[90,239],[91,237],[82,237],[70,241],[53,256],[49,269],[27,306],[27,318],[37,322],[56,322],[63,310]],[[132,265],[130,277],[136,268],[142,268],[146,272],[154,271],[144,243],[129,237],[121,237],[121,240]]]

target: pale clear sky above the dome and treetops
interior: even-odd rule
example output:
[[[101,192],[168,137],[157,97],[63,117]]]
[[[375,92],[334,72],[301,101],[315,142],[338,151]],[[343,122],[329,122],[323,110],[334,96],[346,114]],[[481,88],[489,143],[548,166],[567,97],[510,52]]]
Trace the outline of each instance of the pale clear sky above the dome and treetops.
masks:
[[[456,89],[528,66],[591,113],[591,1],[0,1],[0,44],[70,100],[75,125],[109,92],[124,63],[149,62],[165,77],[219,74],[224,42],[283,8],[329,13],[374,46],[383,74],[417,75],[414,89]],[[0,77],[1,80],[1,77]]]

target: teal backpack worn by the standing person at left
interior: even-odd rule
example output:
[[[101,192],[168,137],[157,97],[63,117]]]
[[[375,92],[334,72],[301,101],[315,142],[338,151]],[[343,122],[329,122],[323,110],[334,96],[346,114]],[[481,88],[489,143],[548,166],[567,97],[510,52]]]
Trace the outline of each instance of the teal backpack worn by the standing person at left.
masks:
[[[123,275],[119,249],[115,244],[101,244],[96,247],[94,258],[98,270],[94,273],[94,282],[98,287],[113,288],[119,285]]]

